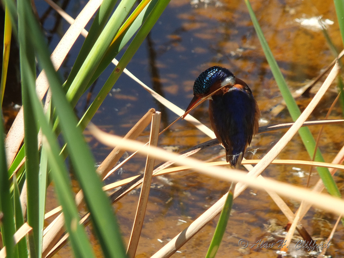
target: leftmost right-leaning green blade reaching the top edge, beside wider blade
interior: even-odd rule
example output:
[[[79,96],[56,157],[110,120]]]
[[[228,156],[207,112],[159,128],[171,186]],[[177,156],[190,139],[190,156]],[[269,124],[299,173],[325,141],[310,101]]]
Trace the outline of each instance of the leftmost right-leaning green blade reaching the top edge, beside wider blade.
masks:
[[[88,31],[88,35],[85,39],[85,42],[78,54],[77,59],[75,60],[75,63],[72,67],[72,70],[68,76],[68,79],[65,84],[65,90],[68,90],[71,83],[75,79],[75,76],[77,75],[78,71],[80,70],[82,64],[84,63],[88,53],[91,51],[91,48],[93,47],[94,43],[98,39],[100,33],[103,31],[112,10],[115,7],[117,0],[104,0],[102,4],[99,7],[99,10],[97,12],[96,17],[94,18],[94,21],[92,23],[91,28]]]

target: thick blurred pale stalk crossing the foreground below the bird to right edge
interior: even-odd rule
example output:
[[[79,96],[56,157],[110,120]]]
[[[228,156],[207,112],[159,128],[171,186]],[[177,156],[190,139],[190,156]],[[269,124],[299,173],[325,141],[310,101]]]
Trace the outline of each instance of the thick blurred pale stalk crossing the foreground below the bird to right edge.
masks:
[[[344,213],[344,200],[329,196],[327,194],[314,193],[314,191],[310,191],[309,189],[279,182],[270,178],[261,180],[260,178],[248,176],[249,173],[235,169],[204,167],[203,162],[194,158],[182,158],[178,154],[153,146],[148,148],[141,142],[127,140],[115,135],[104,133],[92,124],[88,126],[88,130],[98,141],[110,146],[117,146],[131,151],[139,149],[139,151],[145,155],[149,154],[161,160],[171,160],[179,165],[190,165],[194,170],[197,170],[208,176],[213,176],[230,182],[234,181],[246,183],[247,185],[256,189],[264,190],[266,188],[294,200],[304,200],[309,203],[313,203],[319,208],[336,214],[341,214],[342,212]]]

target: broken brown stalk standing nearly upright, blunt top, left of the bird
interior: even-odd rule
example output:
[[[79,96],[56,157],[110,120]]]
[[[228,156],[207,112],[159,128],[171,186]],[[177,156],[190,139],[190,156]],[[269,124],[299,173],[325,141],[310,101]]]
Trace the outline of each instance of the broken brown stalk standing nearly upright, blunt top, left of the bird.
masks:
[[[149,146],[157,146],[159,139],[159,127],[160,127],[161,113],[156,112],[152,115],[152,123],[150,128]],[[140,199],[136,210],[133,229],[131,231],[130,240],[127,249],[128,258],[134,258],[139,244],[141,230],[143,226],[144,215],[146,212],[148,196],[150,192],[150,185],[152,182],[152,173],[154,169],[155,158],[147,156],[143,183],[141,187]]]

